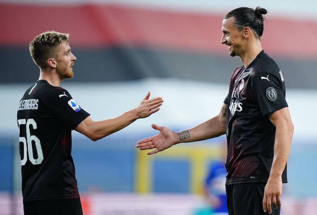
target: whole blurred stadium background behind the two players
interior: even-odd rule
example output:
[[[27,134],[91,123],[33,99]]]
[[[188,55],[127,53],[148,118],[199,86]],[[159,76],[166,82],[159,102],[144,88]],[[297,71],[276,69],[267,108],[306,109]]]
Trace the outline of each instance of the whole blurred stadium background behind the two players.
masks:
[[[84,214],[217,214],[209,197],[221,194],[225,178],[215,177],[212,166],[223,165],[225,136],[152,156],[135,146],[157,133],[152,123],[179,131],[219,113],[231,74],[241,65],[220,43],[221,24],[241,6],[259,4],[0,0],[0,214],[23,214],[16,111],[24,91],[39,77],[29,41],[47,30],[70,34],[77,61],[74,78],[61,86],[93,120],[136,107],[147,91],[165,100],[151,117],[97,142],[73,132]],[[317,3],[267,0],[260,6],[268,10],[262,47],[284,75],[295,127],[282,214],[316,215]],[[218,191],[207,188],[212,183]]]

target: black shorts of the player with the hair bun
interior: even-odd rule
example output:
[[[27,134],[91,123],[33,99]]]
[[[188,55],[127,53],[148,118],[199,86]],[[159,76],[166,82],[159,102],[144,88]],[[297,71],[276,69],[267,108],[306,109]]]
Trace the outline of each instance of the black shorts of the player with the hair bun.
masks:
[[[245,183],[226,185],[229,215],[268,215],[263,211],[264,187],[266,183]],[[271,215],[280,215],[281,208],[274,209]]]

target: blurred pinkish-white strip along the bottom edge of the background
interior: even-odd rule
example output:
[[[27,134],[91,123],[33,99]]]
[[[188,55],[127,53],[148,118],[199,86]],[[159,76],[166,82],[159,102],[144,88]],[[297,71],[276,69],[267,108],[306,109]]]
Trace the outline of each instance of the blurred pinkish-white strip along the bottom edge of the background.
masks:
[[[281,215],[316,215],[317,198],[282,198]],[[206,215],[208,206],[194,194],[86,193],[84,215]],[[14,208],[14,209],[13,209]],[[14,211],[14,213],[12,213]],[[1,215],[23,215],[21,195],[0,193]],[[218,215],[218,214],[214,214]],[[220,215],[220,214],[219,214]],[[222,214],[223,215],[223,214]]]

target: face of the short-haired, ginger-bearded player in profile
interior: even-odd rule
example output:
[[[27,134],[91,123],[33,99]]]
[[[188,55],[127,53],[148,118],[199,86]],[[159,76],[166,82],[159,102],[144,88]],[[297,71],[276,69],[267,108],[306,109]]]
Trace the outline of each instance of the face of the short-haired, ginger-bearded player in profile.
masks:
[[[74,76],[73,68],[76,57],[71,52],[69,44],[62,42],[55,50],[56,72],[62,79]]]

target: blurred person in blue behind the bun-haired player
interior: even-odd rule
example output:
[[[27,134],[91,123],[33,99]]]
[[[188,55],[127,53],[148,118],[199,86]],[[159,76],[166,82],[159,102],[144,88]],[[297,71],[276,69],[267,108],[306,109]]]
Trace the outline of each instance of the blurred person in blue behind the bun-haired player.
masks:
[[[203,186],[205,201],[210,205],[211,213],[214,215],[228,214],[225,187],[227,170],[224,166],[227,143],[223,143],[220,148],[222,149],[221,158],[210,162]]]

